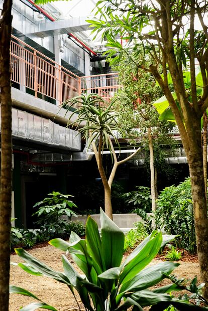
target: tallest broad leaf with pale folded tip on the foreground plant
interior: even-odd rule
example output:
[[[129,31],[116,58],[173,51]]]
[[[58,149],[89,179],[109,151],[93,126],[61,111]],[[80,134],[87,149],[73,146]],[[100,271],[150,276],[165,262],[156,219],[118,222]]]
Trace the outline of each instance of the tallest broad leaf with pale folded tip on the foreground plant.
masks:
[[[108,270],[121,264],[124,253],[124,233],[100,209],[101,254],[103,269]]]

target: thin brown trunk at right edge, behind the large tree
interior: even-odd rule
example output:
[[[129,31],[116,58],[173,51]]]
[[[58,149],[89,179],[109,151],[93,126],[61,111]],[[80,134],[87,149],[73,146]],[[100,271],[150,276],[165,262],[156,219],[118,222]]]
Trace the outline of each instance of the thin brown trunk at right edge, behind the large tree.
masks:
[[[208,119],[205,111],[203,113],[203,175],[204,175],[206,202],[207,202],[207,124]]]

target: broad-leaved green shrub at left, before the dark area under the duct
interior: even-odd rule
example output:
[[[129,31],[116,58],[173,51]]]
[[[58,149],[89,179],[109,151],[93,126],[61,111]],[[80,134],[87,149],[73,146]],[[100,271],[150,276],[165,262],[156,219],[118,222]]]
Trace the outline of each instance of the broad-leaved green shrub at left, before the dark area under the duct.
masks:
[[[41,230],[45,232],[49,238],[66,234],[66,228],[69,225],[68,220],[64,219],[75,215],[72,208],[77,206],[70,200],[71,195],[63,195],[59,192],[48,194],[48,198],[34,205],[38,210],[33,214],[38,216],[36,224],[41,226]]]

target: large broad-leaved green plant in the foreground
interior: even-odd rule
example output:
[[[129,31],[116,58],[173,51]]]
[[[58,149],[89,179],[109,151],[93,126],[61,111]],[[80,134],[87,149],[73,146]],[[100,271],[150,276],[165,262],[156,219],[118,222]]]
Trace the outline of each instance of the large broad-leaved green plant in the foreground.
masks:
[[[176,283],[149,289],[168,277],[178,266],[178,263],[162,262],[147,267],[160,247],[173,239],[173,236],[162,236],[161,232],[152,232],[122,262],[124,233],[102,210],[100,222],[101,237],[96,222],[88,217],[85,240],[72,232],[69,242],[62,239],[50,241],[51,245],[69,252],[84,275],[80,275],[64,255],[62,255],[64,272],[59,272],[21,248],[17,248],[16,253],[26,263],[18,263],[18,265],[33,275],[44,275],[67,284],[73,295],[76,289],[85,309],[90,311],[120,311],[127,310],[130,306],[143,310],[143,307],[150,305],[157,310],[163,310],[169,305],[176,306],[179,310],[205,310],[205,308],[168,295],[172,290],[180,290],[180,285]],[[38,299],[20,287],[12,286],[11,292],[26,294]],[[43,301],[39,300],[38,303],[36,308],[44,306],[55,310]],[[157,305],[160,305],[160,308],[157,308]],[[23,311],[32,306],[33,304],[27,305]],[[80,309],[79,305],[78,307]]]

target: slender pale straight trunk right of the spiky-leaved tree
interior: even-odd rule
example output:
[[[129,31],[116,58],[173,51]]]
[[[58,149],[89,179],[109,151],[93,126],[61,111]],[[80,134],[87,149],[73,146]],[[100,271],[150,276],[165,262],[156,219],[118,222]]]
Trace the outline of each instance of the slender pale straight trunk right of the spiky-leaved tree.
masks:
[[[152,196],[152,211],[156,211],[156,198],[155,198],[155,172],[154,172],[154,152],[152,143],[151,127],[148,128],[148,143],[150,150],[150,176],[151,176],[151,196]]]

